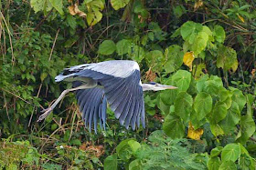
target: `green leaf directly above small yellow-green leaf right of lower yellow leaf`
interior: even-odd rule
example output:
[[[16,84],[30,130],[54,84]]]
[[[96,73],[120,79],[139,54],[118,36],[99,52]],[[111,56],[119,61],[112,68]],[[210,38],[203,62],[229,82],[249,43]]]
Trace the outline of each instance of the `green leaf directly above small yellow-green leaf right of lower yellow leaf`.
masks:
[[[223,102],[217,102],[211,113],[207,115],[210,124],[217,124],[227,115],[227,105]]]

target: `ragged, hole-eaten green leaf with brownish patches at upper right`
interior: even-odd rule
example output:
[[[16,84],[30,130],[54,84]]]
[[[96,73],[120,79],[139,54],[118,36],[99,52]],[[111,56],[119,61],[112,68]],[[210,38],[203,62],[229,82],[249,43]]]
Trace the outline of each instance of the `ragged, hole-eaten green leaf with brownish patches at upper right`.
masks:
[[[237,52],[228,46],[220,45],[217,56],[218,68],[223,68],[224,71],[228,71],[232,68],[235,72],[238,68]]]

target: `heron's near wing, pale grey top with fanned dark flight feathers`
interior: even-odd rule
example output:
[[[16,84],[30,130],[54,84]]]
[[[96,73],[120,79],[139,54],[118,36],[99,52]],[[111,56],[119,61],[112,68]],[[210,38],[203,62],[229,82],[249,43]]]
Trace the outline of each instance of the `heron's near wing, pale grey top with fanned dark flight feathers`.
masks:
[[[104,94],[115,117],[126,128],[144,124],[144,95],[139,65],[133,61],[114,60],[89,65],[76,73],[91,77],[104,88]]]

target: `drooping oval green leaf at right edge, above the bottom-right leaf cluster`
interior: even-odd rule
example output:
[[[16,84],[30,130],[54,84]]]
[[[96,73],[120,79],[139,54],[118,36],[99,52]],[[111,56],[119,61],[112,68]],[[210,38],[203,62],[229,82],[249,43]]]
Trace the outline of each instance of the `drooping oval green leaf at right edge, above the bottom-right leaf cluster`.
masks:
[[[253,135],[255,132],[255,123],[251,115],[243,115],[240,119],[240,131],[237,135],[237,141],[241,144],[245,142]]]

